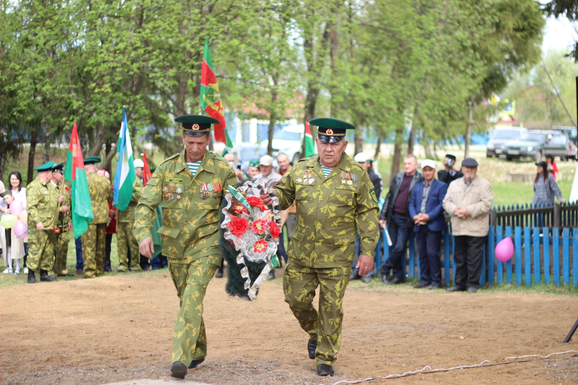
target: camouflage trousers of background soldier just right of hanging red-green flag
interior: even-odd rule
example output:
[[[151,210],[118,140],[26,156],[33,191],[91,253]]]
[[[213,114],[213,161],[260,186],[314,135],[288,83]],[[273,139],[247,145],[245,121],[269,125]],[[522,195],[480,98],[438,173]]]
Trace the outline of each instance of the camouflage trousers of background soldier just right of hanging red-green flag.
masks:
[[[80,236],[84,276],[95,278],[105,274],[106,223],[88,225],[88,230]]]

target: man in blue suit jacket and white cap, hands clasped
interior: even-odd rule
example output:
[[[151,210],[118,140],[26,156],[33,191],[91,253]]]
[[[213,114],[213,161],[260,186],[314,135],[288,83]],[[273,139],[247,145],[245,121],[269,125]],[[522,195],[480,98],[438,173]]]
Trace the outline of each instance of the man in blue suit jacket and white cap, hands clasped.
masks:
[[[415,186],[409,201],[409,215],[415,223],[414,233],[421,270],[421,282],[413,287],[436,289],[442,284],[439,249],[442,245],[442,231],[446,228],[442,201],[446,196],[447,184],[435,179],[435,162],[431,159],[421,162],[421,173],[424,181]]]

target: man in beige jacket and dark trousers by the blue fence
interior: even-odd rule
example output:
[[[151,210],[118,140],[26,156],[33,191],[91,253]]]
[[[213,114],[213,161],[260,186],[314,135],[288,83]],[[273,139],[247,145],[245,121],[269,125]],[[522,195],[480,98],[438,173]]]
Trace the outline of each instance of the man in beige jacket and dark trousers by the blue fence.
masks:
[[[464,177],[450,183],[443,199],[443,209],[451,215],[451,231],[455,237],[454,286],[447,291],[475,293],[480,287],[494,190],[490,182],[477,176],[475,159],[464,159],[462,172]]]

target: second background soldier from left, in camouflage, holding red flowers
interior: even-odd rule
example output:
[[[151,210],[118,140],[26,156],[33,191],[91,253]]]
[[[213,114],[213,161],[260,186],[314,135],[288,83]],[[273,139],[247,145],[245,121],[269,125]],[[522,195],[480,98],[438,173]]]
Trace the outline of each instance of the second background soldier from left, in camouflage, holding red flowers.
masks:
[[[64,186],[61,186],[64,183]],[[53,234],[54,240],[54,273],[58,276],[74,276],[66,270],[66,256],[68,255],[68,231],[72,229],[71,218],[71,189],[64,182],[64,162],[52,167],[52,180],[48,184],[53,193],[58,197],[61,204],[56,229]],[[60,232],[58,231],[60,230]]]

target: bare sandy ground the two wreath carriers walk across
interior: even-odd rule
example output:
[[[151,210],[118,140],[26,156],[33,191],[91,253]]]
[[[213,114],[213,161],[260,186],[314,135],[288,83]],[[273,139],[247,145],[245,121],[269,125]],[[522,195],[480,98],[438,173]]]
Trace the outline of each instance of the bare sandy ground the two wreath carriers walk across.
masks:
[[[578,353],[503,360],[578,350],[578,335],[561,343],[578,317],[575,297],[445,293],[355,281],[344,300],[336,375],[318,377],[306,355],[307,335],[283,302],[280,278],[265,282],[253,303],[228,298],[224,284],[221,278],[209,285],[209,355],[186,380],[331,385],[424,365],[450,368],[490,360],[484,365],[492,366],[369,383],[578,383]],[[179,301],[166,270],[8,287],[0,290],[0,301],[0,383],[176,383],[168,373]]]

